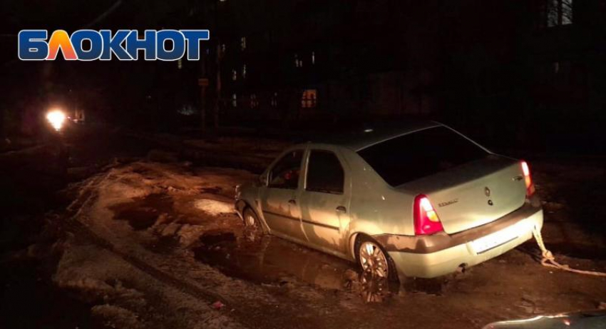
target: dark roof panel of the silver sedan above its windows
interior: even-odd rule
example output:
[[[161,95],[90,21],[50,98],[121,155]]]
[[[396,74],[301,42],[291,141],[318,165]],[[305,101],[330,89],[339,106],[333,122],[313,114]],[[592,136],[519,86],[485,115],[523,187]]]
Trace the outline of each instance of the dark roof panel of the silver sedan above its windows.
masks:
[[[387,141],[391,138],[406,135],[414,131],[443,126],[436,121],[406,121],[390,124],[364,125],[362,128],[352,128],[350,131],[312,139],[309,143],[323,143],[351,148],[360,151],[376,143]]]

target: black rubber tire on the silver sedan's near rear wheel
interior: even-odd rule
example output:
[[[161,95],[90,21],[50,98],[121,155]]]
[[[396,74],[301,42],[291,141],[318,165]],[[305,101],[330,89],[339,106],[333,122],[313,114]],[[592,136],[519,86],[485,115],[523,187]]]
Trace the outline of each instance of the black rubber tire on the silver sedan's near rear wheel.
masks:
[[[376,253],[376,258],[372,259],[370,261],[371,265],[368,264],[368,262],[366,261],[366,265],[364,264],[364,259],[363,258],[368,258],[368,251],[366,251],[366,248],[369,248],[369,246],[371,246],[371,248],[373,248],[372,250],[374,251],[374,253]],[[365,250],[361,250],[361,248],[365,248]],[[354,251],[355,251],[355,255],[356,255],[356,262],[358,263],[358,265],[360,266],[362,271],[368,271],[371,270],[374,272],[375,275],[386,275],[386,278],[389,281],[398,281],[398,271],[396,269],[396,264],[394,263],[394,260],[391,259],[391,257],[389,257],[389,254],[385,251],[385,249],[383,248],[383,246],[381,246],[378,242],[374,241],[373,238],[369,237],[369,236],[365,236],[365,235],[359,235],[356,238],[356,243],[354,243]],[[364,255],[361,255],[361,253],[365,253],[366,257],[364,257]],[[384,260],[381,260],[384,259]],[[379,260],[379,261],[376,261]],[[383,264],[381,264],[383,263]],[[378,266],[372,266],[372,265],[377,265],[377,264],[381,264]],[[384,270],[379,270],[379,268],[386,266],[386,268]]]

